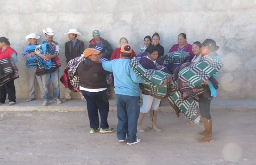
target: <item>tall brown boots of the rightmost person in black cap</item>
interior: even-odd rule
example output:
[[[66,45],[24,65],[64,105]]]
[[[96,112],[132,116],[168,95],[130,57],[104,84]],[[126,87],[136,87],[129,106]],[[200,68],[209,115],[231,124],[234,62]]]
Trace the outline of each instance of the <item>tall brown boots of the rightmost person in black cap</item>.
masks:
[[[204,124],[204,138],[203,139],[197,139],[197,142],[213,142],[214,139],[212,137],[212,119],[207,119],[202,117],[203,124]]]

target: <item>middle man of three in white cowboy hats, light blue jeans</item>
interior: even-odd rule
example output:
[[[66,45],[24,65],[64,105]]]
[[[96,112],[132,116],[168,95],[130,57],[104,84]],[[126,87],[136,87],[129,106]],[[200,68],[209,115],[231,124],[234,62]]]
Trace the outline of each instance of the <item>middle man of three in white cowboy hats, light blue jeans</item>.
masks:
[[[52,45],[52,47],[55,50],[55,54],[43,54],[44,57],[47,59],[57,58],[60,49],[59,45],[56,41],[53,40],[54,31],[51,28],[46,28],[46,30],[43,30],[43,33],[45,34],[46,40],[41,41],[40,44],[49,43]],[[41,56],[42,54],[38,54]],[[56,61],[55,58],[55,61]],[[47,73],[41,75],[42,80],[42,92],[43,92],[43,104],[42,106],[47,106],[49,101],[49,82],[52,81],[52,91],[53,91],[53,98],[57,104],[61,104],[62,101],[60,100],[60,87],[59,87],[59,73],[60,69],[56,65],[56,69],[54,72]]]

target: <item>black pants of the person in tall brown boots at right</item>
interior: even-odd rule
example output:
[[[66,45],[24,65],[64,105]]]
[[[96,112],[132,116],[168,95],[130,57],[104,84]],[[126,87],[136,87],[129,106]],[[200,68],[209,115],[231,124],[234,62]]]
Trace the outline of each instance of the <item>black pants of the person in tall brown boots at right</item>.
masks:
[[[211,119],[211,114],[210,114],[211,98],[204,97],[203,94],[200,94],[198,103],[199,103],[199,109],[202,117]]]

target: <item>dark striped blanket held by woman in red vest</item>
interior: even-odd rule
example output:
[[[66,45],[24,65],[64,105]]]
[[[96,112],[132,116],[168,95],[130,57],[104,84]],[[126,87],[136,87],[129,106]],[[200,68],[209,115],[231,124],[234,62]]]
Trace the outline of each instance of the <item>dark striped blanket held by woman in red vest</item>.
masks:
[[[18,69],[12,58],[0,60],[0,86],[19,78]]]

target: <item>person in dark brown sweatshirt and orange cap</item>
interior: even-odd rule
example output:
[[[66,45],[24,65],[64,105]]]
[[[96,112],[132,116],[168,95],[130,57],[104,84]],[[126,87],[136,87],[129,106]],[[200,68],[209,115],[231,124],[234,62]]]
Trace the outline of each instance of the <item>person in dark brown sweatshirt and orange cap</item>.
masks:
[[[105,71],[102,64],[98,63],[99,53],[100,51],[93,48],[85,49],[83,55],[86,60],[82,61],[77,68],[77,74],[80,77],[80,91],[87,101],[91,134],[99,129],[99,114],[101,120],[99,132],[111,133],[115,131],[108,125],[109,102],[106,94],[108,87],[106,75],[110,72]]]

